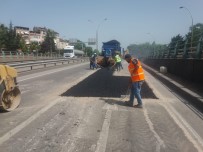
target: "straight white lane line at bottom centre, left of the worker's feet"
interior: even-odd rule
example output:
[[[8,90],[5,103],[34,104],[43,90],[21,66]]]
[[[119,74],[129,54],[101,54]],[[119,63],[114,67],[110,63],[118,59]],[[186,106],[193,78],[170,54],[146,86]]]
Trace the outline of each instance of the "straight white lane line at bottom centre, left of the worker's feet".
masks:
[[[109,126],[110,126],[110,120],[111,120],[111,114],[112,110],[111,108],[107,107],[107,111],[105,114],[102,130],[99,136],[99,140],[97,142],[97,149],[95,152],[105,152],[106,151],[106,144],[107,144],[107,139],[109,135]]]

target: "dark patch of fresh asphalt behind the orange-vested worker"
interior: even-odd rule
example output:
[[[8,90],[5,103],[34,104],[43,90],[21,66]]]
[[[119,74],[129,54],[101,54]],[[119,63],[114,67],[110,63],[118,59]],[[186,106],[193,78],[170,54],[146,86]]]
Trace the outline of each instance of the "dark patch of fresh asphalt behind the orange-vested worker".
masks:
[[[126,95],[128,81],[128,76],[114,76],[112,70],[99,69],[61,96],[120,98]],[[146,82],[142,86],[141,95],[142,98],[157,99]]]

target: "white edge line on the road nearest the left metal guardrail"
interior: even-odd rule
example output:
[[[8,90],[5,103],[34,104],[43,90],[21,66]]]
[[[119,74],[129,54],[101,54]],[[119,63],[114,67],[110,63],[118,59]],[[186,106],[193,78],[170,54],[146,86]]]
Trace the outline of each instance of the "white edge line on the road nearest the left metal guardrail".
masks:
[[[67,68],[62,68],[62,69],[59,69],[59,70],[55,70],[55,71],[52,71],[52,72],[45,72],[45,73],[42,72],[42,74],[40,74],[40,75],[33,74],[35,76],[31,76],[32,74],[28,75],[28,76],[21,76],[21,77],[18,78],[18,82],[38,78],[38,77],[41,77],[41,76],[49,75],[49,74],[52,74],[52,73],[57,73],[57,72],[60,72],[60,71],[65,71],[65,70],[72,69],[74,67],[81,66],[81,65],[84,65],[84,64],[77,64],[77,65],[73,65],[73,66],[70,66],[70,67],[67,67]],[[27,78],[23,78],[23,77],[27,77]]]

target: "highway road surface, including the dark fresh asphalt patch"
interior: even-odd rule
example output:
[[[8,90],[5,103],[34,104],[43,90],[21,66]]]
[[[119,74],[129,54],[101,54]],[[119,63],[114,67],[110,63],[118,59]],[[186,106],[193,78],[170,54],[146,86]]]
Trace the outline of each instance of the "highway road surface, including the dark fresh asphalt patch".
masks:
[[[20,74],[21,105],[0,113],[0,152],[202,152],[198,111],[147,71],[144,108],[125,105],[123,66],[112,72],[80,63]]]

